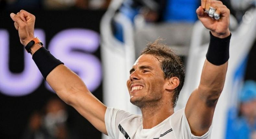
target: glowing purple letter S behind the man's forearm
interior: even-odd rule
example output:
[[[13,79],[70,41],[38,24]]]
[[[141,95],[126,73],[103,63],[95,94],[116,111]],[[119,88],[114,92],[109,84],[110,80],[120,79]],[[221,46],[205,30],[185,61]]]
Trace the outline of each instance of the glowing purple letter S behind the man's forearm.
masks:
[[[99,34],[97,32],[72,28],[57,33],[49,43],[48,50],[76,72],[92,92],[101,83],[100,61],[91,54],[98,48]]]

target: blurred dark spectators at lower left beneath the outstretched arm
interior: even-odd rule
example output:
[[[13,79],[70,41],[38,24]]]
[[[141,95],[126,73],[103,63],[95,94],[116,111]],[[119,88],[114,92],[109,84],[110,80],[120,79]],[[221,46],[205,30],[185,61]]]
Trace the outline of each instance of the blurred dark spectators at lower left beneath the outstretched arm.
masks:
[[[67,119],[64,102],[52,98],[42,110],[30,115],[22,139],[76,139],[67,126]]]

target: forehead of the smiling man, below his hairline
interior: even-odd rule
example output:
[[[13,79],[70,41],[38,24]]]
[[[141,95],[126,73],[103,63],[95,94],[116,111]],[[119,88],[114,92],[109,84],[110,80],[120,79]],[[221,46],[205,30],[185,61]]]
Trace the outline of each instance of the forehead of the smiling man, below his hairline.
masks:
[[[150,54],[143,54],[141,55],[134,63],[134,66],[139,66],[139,65],[149,65],[149,66],[159,66],[160,62],[154,55]]]

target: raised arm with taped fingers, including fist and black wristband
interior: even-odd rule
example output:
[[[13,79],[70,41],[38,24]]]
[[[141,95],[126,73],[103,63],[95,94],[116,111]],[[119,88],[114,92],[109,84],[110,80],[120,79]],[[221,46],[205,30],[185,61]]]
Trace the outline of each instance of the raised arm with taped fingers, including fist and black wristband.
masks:
[[[219,20],[209,17],[204,12],[209,10],[210,6],[216,9],[215,14],[220,15]],[[231,34],[228,29],[229,9],[221,1],[202,0],[196,13],[204,27],[210,30],[211,38],[199,87],[192,92],[185,114],[192,134],[201,136],[212,124],[215,106],[223,90]]]

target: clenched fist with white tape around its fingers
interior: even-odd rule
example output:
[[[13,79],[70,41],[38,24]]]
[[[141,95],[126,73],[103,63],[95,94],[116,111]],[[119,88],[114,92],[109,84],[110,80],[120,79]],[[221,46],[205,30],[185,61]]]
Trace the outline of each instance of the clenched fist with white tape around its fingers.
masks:
[[[216,14],[220,15],[219,20],[208,16],[204,10],[209,10],[210,7],[216,9]],[[229,31],[229,16],[230,11],[227,6],[223,5],[221,1],[218,0],[201,0],[201,6],[196,10],[198,19],[203,23],[204,27],[211,30],[211,33],[215,37],[224,38],[230,35]]]

